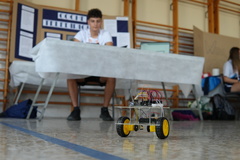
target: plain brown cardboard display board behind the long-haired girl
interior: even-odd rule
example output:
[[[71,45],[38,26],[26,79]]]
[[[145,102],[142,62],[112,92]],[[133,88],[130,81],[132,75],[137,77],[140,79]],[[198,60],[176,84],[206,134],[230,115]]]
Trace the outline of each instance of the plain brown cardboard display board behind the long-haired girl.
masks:
[[[222,73],[232,47],[240,47],[240,39],[203,32],[194,27],[194,55],[205,57],[204,72],[218,68]]]

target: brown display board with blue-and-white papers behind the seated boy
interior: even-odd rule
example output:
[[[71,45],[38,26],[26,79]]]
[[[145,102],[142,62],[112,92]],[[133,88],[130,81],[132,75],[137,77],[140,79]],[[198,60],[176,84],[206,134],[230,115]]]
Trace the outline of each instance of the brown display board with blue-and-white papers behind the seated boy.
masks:
[[[15,0],[10,62],[16,59],[32,61],[30,50],[44,38],[73,40],[78,31],[86,28],[86,12]],[[103,15],[103,29],[111,33],[114,46],[132,47],[132,23],[129,17]]]

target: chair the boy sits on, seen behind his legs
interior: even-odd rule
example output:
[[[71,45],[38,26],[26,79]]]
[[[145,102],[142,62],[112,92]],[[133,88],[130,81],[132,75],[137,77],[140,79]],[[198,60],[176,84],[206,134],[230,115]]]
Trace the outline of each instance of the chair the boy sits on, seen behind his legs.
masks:
[[[95,96],[95,97],[100,97],[104,96],[102,94],[97,94],[97,93],[82,93],[83,91],[94,91],[94,92],[103,92],[106,86],[106,83],[100,83],[96,81],[95,77],[88,77],[86,78],[85,82],[78,82],[78,106],[81,104],[81,95],[86,95],[86,96]],[[90,86],[90,87],[85,87],[82,88],[81,86]],[[116,96],[116,93],[114,91],[112,95],[112,117],[114,118],[115,114],[115,109],[114,109],[114,98]],[[93,105],[97,105],[96,103]]]

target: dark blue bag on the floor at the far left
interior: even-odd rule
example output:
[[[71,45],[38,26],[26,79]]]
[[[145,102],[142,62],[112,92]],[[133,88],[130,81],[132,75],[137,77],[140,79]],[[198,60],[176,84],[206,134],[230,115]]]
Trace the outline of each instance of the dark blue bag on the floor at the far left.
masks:
[[[3,118],[27,118],[28,111],[32,105],[32,100],[28,99],[18,104],[9,107],[5,112],[2,112],[0,117]],[[30,118],[37,117],[37,107],[34,106]]]

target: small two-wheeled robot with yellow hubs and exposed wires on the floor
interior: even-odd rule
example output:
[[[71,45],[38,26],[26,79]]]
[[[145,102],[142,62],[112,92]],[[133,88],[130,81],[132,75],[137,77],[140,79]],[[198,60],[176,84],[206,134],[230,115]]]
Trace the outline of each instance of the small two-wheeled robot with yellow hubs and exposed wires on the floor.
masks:
[[[137,94],[128,107],[117,107],[129,110],[129,116],[121,116],[116,123],[119,136],[127,137],[131,131],[144,128],[148,132],[155,132],[159,139],[165,139],[170,133],[169,121],[164,117],[161,93],[157,90],[143,90]],[[133,114],[135,118],[133,118]]]

